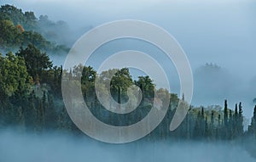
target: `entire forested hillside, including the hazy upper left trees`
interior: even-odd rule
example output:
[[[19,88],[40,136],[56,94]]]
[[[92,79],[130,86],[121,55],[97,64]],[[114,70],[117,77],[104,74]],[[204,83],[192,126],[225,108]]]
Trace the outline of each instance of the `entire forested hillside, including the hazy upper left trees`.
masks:
[[[46,15],[38,19],[33,12],[24,13],[12,5],[0,8],[0,47],[3,52],[0,53],[0,130],[13,128],[36,134],[67,131],[81,135],[67,115],[63,103],[62,76],[67,80],[81,77],[84,100],[91,113],[113,126],[128,126],[142,120],[151,109],[154,91],[166,92],[163,88],[156,89],[154,81],[147,75],[133,80],[128,68],[97,74],[92,67],[82,64],[70,70],[55,66],[48,53],[67,53],[69,49],[51,41],[53,36],[44,27],[45,24],[61,28],[65,22],[52,22]],[[109,79],[112,74],[110,88],[116,102],[127,101],[127,88],[132,85],[137,85],[143,92],[142,102],[131,113],[114,114],[104,109],[96,98],[96,78]],[[245,128],[242,103],[238,102],[235,108],[231,108],[225,98],[224,108],[212,106],[209,109],[190,105],[183,123],[177,130],[170,131],[169,125],[177,103],[180,100],[185,102],[185,97],[178,98],[174,93],[170,93],[170,96],[164,120],[146,139],[240,141],[252,137],[256,140],[256,105],[252,108],[251,123]]]

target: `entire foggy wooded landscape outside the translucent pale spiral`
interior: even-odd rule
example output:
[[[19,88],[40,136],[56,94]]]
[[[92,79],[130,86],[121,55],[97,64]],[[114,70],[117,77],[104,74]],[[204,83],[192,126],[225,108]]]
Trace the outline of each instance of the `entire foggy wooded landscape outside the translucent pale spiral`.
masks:
[[[0,33],[0,162],[255,161],[255,2],[3,0],[0,4],[10,4],[0,9],[0,30],[4,31]],[[62,69],[67,53],[80,36],[114,20],[159,25],[187,54],[194,94],[188,114],[175,131],[169,126],[177,103],[185,102],[186,94],[183,98],[172,60],[154,44],[133,38],[113,40],[98,47],[86,64]],[[102,75],[98,71],[102,62],[125,50],[148,53],[160,63],[170,80],[171,104],[160,125],[141,140],[125,144],[98,142],[84,135],[67,114],[61,77],[72,80],[86,70],[81,89],[98,119],[113,126],[142,120],[148,115],[151,93],[166,85],[154,85],[150,78],[147,82],[145,73],[126,70],[124,64],[124,69],[118,70],[121,75],[115,75],[115,83],[121,86],[112,87],[113,98],[119,103],[123,102],[121,98],[127,99],[122,93],[127,85],[137,85],[147,97],[137,111],[121,117],[103,108],[94,89],[96,76],[109,79],[113,72],[103,71]],[[137,61],[156,73],[151,64]]]

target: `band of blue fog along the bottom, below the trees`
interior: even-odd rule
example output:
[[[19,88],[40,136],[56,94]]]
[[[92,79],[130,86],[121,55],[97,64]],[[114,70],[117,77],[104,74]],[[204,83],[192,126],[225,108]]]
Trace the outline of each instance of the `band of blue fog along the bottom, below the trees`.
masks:
[[[65,133],[32,135],[1,131],[0,161],[253,162],[255,159],[245,148],[229,142],[132,142],[112,145],[87,137],[67,137]]]

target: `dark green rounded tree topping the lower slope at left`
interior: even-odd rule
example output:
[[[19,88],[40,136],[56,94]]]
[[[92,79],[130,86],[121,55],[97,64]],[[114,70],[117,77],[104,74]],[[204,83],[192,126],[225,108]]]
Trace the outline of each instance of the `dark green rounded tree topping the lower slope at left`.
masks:
[[[40,50],[32,44],[29,44],[25,49],[20,47],[17,56],[25,59],[26,69],[33,80],[36,81],[37,75],[42,78],[43,70],[48,70],[52,67],[52,62],[46,53],[41,53]]]

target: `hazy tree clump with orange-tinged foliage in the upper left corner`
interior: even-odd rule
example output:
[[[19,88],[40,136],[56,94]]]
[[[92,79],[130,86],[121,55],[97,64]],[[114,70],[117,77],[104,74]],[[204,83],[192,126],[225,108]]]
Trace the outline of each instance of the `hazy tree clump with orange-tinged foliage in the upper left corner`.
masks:
[[[1,6],[0,47],[9,51],[32,43],[44,51],[67,52],[68,48],[64,45],[56,45],[55,42],[49,42],[42,36],[45,31],[42,23],[42,20],[38,20],[33,12],[23,13],[21,9],[9,4]]]

